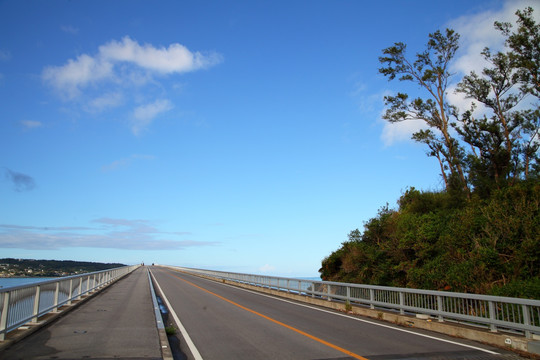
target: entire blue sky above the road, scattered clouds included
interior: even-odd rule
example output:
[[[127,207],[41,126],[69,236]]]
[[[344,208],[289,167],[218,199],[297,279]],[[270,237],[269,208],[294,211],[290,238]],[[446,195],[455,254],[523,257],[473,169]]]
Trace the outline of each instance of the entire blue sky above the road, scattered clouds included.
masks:
[[[453,27],[459,74],[527,5],[0,1],[0,257],[317,276],[409,186],[442,188],[418,124],[381,120],[417,91],[382,49]]]

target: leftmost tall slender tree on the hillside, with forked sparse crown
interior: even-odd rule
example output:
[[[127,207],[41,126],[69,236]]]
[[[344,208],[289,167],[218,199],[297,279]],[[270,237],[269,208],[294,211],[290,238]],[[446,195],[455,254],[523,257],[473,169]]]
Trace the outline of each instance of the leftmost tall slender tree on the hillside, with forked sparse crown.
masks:
[[[427,93],[426,98],[418,97],[412,101],[404,93],[385,96],[388,108],[383,118],[392,123],[424,121],[429,129],[415,133],[413,139],[425,143],[430,149],[428,155],[439,160],[446,189],[457,187],[468,194],[463,151],[450,133],[451,119],[456,111],[446,98],[446,89],[452,77],[448,67],[458,49],[458,41],[459,35],[450,29],[444,34],[440,31],[429,34],[426,50],[416,54],[414,62],[406,57],[406,45],[395,43],[384,49],[384,56],[379,57],[379,62],[386,65],[379,72],[389,80],[398,77],[400,81],[414,82]]]

